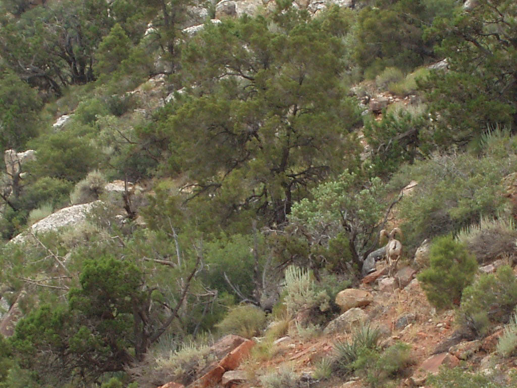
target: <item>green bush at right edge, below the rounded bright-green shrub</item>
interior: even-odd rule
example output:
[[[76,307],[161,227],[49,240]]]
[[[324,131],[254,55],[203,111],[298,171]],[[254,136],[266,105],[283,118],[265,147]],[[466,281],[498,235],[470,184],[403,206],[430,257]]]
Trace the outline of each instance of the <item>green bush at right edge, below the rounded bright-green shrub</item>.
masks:
[[[495,274],[484,274],[463,290],[458,322],[483,335],[491,322],[507,322],[517,305],[517,279],[504,265]]]

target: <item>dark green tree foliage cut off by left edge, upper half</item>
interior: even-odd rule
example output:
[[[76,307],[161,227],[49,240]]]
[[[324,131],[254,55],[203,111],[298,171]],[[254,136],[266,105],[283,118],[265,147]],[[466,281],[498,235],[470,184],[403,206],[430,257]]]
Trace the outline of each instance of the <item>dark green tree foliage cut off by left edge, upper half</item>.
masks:
[[[20,149],[37,135],[41,101],[29,85],[0,64],[0,152]]]

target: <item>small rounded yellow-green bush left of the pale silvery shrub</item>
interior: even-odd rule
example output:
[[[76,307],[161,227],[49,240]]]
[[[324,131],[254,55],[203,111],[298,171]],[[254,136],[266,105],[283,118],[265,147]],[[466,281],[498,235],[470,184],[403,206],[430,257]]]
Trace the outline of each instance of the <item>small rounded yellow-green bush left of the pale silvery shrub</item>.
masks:
[[[253,305],[242,305],[231,308],[216,327],[224,334],[251,338],[263,329],[265,322],[266,313],[262,309]]]

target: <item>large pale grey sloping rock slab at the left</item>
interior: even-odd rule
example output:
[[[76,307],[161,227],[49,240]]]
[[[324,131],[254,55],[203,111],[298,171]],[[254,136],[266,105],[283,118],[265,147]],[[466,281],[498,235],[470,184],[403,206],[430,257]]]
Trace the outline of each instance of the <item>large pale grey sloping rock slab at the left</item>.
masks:
[[[90,203],[83,203],[80,205],[73,205],[65,207],[48,217],[36,222],[28,232],[23,232],[12,238],[11,243],[22,243],[30,233],[43,233],[51,230],[58,230],[67,226],[77,225],[86,219],[88,213],[97,205],[102,204],[102,201],[95,201]]]

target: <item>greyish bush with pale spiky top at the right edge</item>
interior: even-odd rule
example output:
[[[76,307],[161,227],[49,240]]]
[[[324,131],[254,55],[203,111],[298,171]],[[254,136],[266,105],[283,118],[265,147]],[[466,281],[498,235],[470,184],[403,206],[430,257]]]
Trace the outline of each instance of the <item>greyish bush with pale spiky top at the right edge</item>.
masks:
[[[482,217],[479,223],[462,229],[457,240],[468,247],[480,264],[504,255],[512,257],[517,250],[517,230],[511,218]]]

